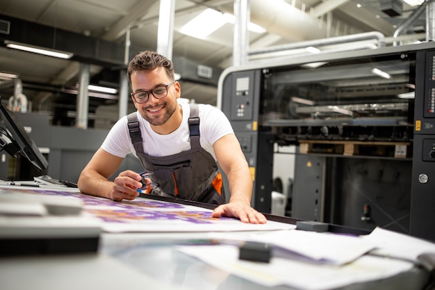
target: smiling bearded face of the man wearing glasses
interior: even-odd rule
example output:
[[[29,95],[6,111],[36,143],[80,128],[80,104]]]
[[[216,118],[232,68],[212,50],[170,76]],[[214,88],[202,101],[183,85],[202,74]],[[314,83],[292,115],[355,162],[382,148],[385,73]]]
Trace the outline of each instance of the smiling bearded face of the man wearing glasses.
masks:
[[[147,92],[148,99],[140,100],[139,97],[131,97],[135,107],[138,109],[142,118],[147,120],[153,126],[162,126],[166,124],[177,110],[177,99],[180,97],[180,85],[176,81],[168,78],[166,71],[158,67],[151,71],[137,71],[131,74],[131,88],[135,96],[144,95],[140,92]],[[170,86],[168,86],[170,85]],[[167,95],[158,95],[156,88],[167,89]],[[154,97],[151,91],[154,90]]]

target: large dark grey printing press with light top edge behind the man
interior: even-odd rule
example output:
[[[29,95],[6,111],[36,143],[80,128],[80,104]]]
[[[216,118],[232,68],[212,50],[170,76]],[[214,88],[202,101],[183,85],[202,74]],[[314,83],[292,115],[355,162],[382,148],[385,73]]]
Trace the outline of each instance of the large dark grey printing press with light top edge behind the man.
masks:
[[[434,59],[426,42],[224,70],[218,106],[251,168],[254,207],[270,212],[277,145],[295,146],[293,218],[435,241]]]

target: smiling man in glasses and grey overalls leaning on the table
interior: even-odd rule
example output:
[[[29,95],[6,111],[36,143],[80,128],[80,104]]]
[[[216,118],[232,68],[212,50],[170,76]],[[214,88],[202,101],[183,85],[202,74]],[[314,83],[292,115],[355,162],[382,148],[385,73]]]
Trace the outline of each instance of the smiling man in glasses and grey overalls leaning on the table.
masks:
[[[250,206],[252,177],[229,120],[210,105],[181,104],[180,84],[172,62],[153,51],[135,56],[128,67],[131,99],[137,112],[121,118],[81,172],[83,193],[112,200],[134,200],[142,177],[126,170],[108,178],[132,152],[148,178],[158,184],[152,193],[220,204],[214,217],[239,218],[244,223],[266,223]],[[217,163],[227,175],[230,199],[225,203]]]

